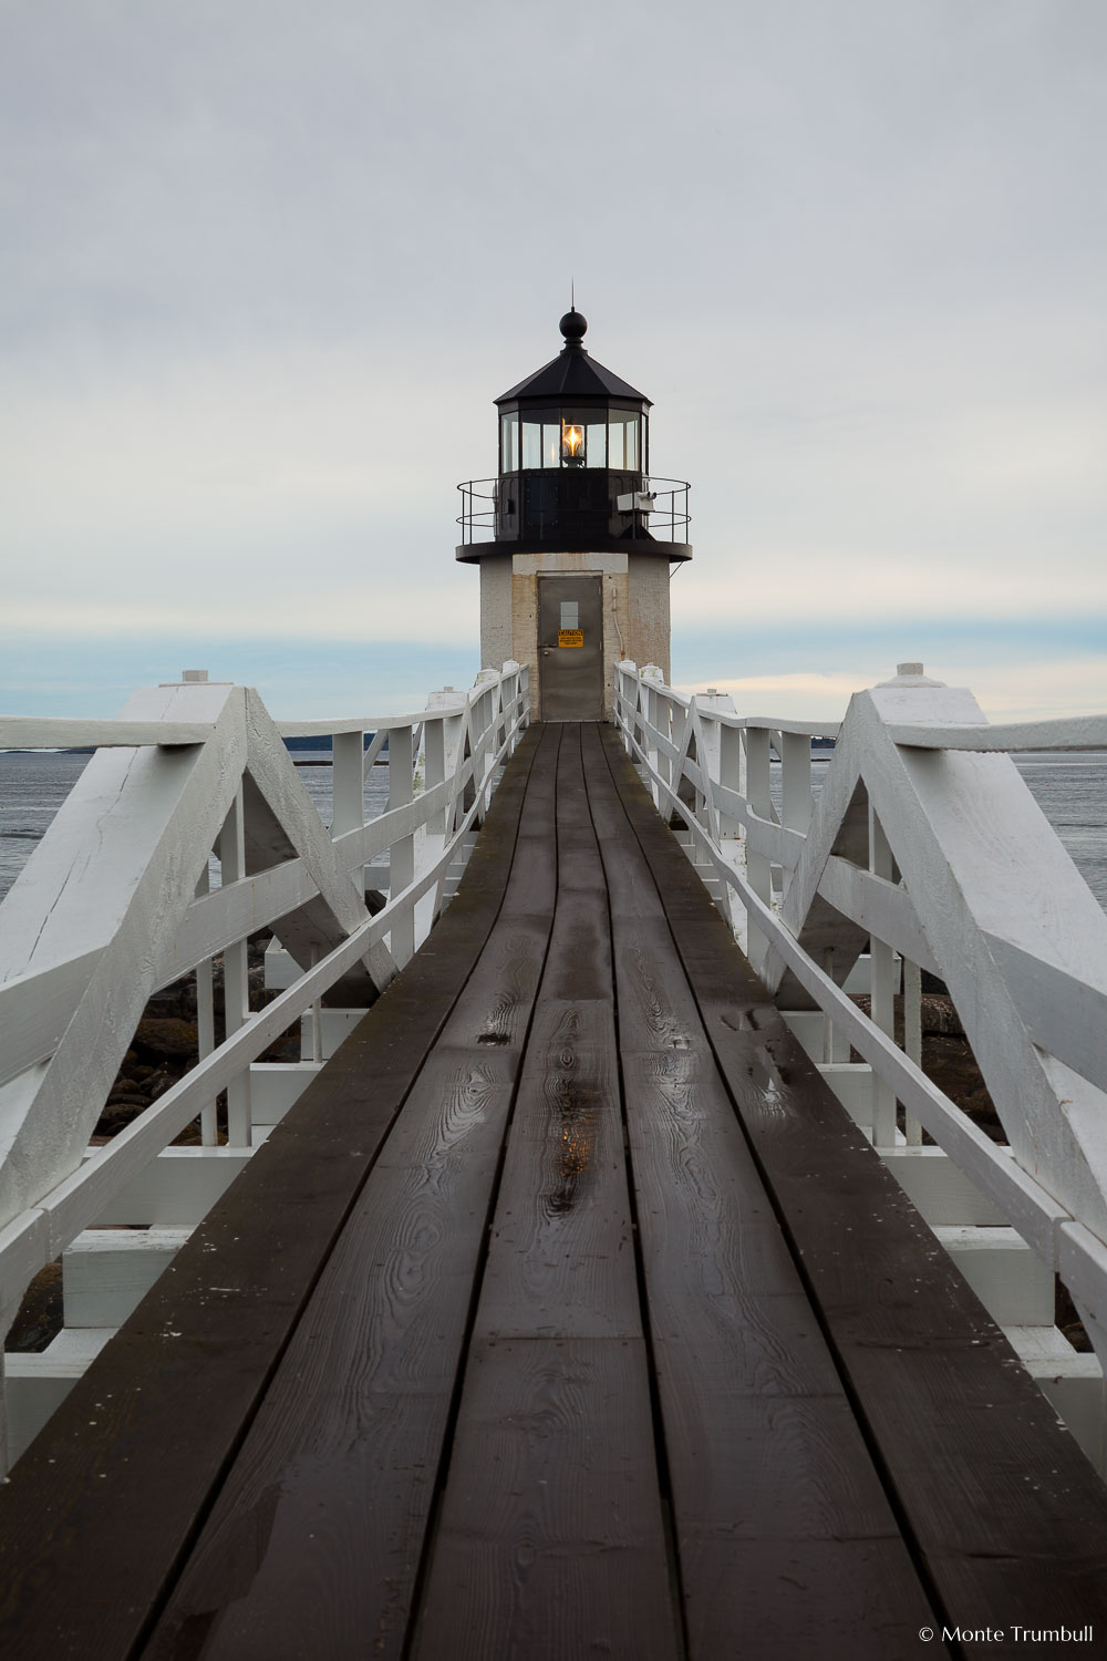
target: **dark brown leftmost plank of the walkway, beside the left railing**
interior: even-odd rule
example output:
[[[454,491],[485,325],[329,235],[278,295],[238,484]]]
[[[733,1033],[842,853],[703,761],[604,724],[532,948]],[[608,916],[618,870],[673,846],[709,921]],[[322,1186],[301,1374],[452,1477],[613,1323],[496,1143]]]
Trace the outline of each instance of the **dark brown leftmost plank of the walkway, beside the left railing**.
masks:
[[[488,937],[538,734],[420,952],[0,1490],[0,1648],[131,1654]],[[325,1083],[324,1083],[325,1080]]]

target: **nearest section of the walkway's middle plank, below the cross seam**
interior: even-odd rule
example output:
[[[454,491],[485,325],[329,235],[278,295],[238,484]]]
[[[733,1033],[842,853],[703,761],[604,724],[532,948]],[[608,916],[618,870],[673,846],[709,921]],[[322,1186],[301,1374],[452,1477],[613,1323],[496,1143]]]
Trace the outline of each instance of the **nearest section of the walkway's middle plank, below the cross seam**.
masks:
[[[642,1349],[475,1345],[418,1661],[675,1661]]]

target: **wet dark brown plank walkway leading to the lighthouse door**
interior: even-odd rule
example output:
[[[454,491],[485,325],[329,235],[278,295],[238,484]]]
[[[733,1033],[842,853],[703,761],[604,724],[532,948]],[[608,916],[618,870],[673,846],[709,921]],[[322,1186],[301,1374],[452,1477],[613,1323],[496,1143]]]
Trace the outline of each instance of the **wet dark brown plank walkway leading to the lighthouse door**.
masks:
[[[0,1576],[20,1661],[1002,1654],[943,1626],[1107,1641],[1107,1502],[614,733],[549,726]]]

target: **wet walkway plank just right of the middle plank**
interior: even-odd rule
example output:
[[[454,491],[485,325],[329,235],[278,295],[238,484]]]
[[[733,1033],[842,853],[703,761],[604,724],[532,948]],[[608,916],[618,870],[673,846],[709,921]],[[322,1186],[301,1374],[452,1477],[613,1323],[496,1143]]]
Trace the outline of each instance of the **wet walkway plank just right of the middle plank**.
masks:
[[[690,1654],[714,1658],[724,1633],[770,1643],[785,1586],[773,1565],[788,1551],[805,1571],[788,1586],[785,1628],[792,1621],[792,1633],[812,1633],[822,1619],[838,1643],[850,1633],[858,1653],[886,1654],[858,1626],[861,1611],[885,1600],[873,1576],[891,1576],[888,1596],[911,1611],[914,1633],[928,1623],[928,1601],[735,1121],[599,744],[593,756]],[[679,887],[689,914],[709,907],[702,885]],[[880,1553],[846,1553],[843,1540],[880,1541]],[[773,1541],[760,1568],[752,1541]]]

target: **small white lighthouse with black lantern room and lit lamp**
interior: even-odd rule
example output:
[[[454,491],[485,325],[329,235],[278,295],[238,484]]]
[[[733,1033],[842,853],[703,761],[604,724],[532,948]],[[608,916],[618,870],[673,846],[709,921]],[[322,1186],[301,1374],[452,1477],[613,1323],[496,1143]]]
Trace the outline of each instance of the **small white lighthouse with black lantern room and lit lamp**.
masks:
[[[689,487],[651,473],[651,400],[561,319],[561,352],[501,394],[498,472],[458,485],[458,560],[480,566],[481,664],[529,664],[543,721],[611,716],[614,664],[669,679],[669,575],[692,558]]]

